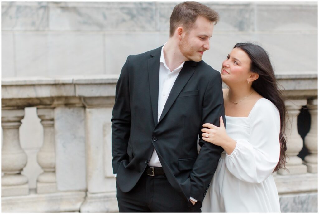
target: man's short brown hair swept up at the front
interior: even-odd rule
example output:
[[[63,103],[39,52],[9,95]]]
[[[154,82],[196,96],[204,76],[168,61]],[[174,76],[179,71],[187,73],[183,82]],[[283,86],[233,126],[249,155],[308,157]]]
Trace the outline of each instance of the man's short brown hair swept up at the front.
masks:
[[[169,20],[169,36],[172,37],[174,35],[174,31],[179,25],[182,25],[186,30],[189,30],[193,27],[198,16],[202,16],[211,22],[214,22],[214,25],[219,21],[218,13],[204,4],[198,2],[184,2],[177,4],[174,7]]]

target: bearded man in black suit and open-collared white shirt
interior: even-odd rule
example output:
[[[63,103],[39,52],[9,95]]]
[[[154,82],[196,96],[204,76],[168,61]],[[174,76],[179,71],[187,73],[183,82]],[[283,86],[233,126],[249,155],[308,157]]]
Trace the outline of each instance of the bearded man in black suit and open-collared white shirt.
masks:
[[[225,121],[220,73],[202,60],[218,20],[203,4],[178,4],[167,43],[127,58],[112,117],[120,212],[200,212],[223,151],[200,131]]]

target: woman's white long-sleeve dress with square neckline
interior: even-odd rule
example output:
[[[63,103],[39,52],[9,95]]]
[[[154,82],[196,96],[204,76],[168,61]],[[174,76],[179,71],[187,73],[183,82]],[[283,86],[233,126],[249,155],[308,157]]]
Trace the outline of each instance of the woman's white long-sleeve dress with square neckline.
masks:
[[[272,172],[279,161],[280,117],[261,98],[248,117],[226,116],[226,132],[237,143],[225,151],[203,201],[202,212],[280,212]]]

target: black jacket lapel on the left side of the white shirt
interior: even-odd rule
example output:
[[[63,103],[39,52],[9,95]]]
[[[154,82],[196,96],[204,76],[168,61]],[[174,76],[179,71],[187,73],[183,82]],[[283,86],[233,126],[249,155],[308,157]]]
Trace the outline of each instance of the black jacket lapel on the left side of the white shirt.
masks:
[[[148,80],[152,103],[154,125],[157,124],[158,96],[159,96],[159,60],[162,47],[155,49],[148,60]]]

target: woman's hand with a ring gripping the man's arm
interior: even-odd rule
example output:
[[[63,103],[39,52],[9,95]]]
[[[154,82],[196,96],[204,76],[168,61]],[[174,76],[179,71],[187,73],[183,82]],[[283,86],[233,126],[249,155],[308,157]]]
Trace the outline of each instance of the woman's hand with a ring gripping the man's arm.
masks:
[[[236,147],[236,141],[227,135],[223,117],[219,118],[219,124],[220,126],[217,127],[211,123],[205,123],[203,127],[207,128],[202,128],[203,140],[223,147],[227,154],[230,155]]]

